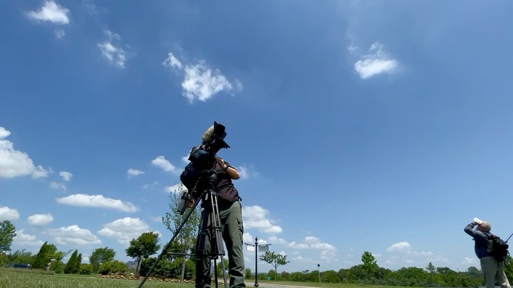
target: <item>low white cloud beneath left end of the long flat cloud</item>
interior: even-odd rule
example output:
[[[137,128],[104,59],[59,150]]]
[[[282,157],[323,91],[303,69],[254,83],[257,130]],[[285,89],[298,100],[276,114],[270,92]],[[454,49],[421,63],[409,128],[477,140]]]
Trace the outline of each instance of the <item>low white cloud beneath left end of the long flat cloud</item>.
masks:
[[[45,233],[55,238],[55,242],[59,245],[83,247],[101,244],[101,241],[93,233],[78,227],[78,225],[48,229]]]

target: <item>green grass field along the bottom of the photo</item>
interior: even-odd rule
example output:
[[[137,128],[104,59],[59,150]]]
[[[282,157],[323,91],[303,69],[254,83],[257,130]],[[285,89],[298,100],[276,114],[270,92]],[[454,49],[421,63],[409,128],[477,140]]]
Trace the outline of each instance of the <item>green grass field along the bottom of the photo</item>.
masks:
[[[248,287],[253,287],[248,281]],[[340,283],[311,283],[311,282],[274,282],[259,281],[259,288],[265,288],[266,284],[284,284],[303,287],[326,288],[371,288],[371,285],[340,284]],[[0,288],[133,288],[138,287],[140,281],[127,279],[105,279],[90,275],[71,274],[46,274],[30,270],[0,269]],[[143,288],[192,288],[194,284],[182,284],[173,282],[147,281]],[[215,285],[212,285],[215,287]],[[219,287],[224,287],[219,285]],[[372,288],[390,288],[388,286],[372,286]],[[393,287],[404,288],[404,287]]]

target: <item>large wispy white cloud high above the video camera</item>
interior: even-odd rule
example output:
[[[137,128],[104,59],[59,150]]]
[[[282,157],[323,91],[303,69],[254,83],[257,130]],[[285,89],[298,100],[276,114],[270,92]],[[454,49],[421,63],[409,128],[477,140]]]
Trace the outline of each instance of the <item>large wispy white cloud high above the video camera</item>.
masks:
[[[204,60],[184,65],[175,55],[168,53],[162,65],[180,70],[184,74],[182,95],[191,103],[195,100],[205,102],[221,91],[233,93],[242,90],[239,80],[236,79],[232,85],[219,70],[209,68]]]

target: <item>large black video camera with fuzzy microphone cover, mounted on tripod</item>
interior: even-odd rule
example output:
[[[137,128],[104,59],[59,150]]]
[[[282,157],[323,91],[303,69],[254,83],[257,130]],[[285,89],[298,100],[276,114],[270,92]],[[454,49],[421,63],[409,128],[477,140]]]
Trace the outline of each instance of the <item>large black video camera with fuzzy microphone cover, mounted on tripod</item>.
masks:
[[[180,195],[180,206],[178,210],[180,215],[185,213],[187,203],[192,198],[197,198],[202,191],[217,183],[217,174],[214,168],[215,156],[223,148],[229,148],[224,142],[227,133],[225,127],[214,121],[214,125],[204,133],[203,143],[192,147],[189,161],[184,171],[180,175],[180,181],[187,187],[186,192]]]

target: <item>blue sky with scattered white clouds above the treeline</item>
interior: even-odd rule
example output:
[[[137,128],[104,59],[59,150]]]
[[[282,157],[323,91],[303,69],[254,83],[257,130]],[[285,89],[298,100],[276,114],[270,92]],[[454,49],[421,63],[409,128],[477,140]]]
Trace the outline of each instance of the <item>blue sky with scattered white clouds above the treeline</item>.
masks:
[[[83,259],[157,230],[214,121],[280,270],[479,266],[513,233],[511,1],[1,1],[0,219]],[[246,252],[254,271],[254,253]],[[259,271],[271,265],[259,264]]]

